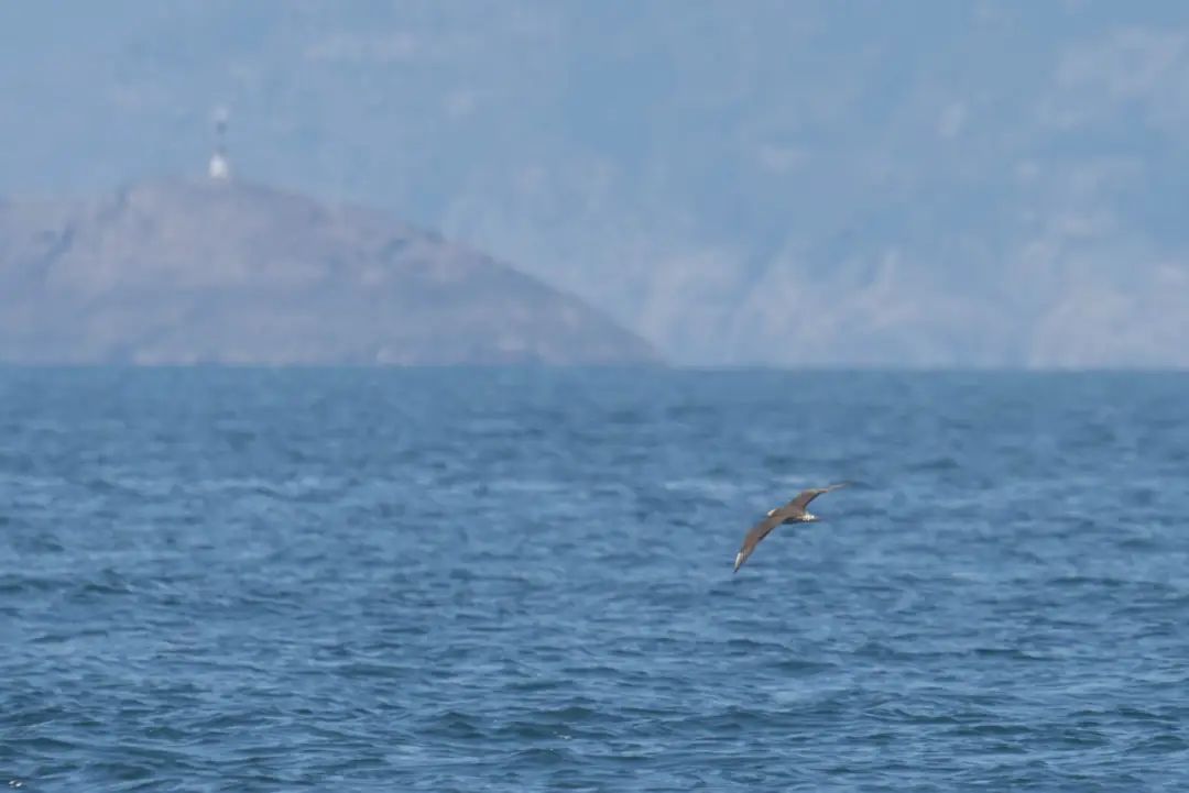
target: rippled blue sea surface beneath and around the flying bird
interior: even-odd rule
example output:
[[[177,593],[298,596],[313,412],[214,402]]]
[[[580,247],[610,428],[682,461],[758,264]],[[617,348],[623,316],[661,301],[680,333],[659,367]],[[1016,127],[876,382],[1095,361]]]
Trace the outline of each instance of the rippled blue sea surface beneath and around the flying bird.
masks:
[[[0,369],[6,785],[1189,789],[1189,375]]]

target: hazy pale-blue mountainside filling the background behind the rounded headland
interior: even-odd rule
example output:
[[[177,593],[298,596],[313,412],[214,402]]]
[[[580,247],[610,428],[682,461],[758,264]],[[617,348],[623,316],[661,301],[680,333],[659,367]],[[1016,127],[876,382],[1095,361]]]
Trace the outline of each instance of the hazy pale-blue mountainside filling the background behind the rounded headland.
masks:
[[[0,7],[0,190],[241,173],[443,229],[678,360],[1189,364],[1189,6]]]

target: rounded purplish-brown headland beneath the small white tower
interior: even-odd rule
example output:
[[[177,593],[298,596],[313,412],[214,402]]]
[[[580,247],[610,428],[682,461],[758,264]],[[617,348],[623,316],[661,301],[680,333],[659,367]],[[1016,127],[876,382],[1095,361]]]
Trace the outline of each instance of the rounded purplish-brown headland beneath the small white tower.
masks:
[[[0,204],[0,361],[640,363],[580,300],[382,214],[225,180]]]

